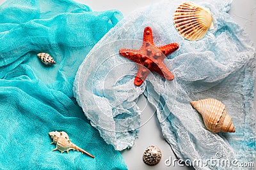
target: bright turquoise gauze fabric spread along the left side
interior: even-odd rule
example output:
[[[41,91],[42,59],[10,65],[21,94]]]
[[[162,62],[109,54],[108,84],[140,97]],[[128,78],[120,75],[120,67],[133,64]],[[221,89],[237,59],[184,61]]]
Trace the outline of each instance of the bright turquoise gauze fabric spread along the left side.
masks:
[[[73,97],[86,54],[122,19],[74,1],[9,1],[0,6],[0,169],[127,169]],[[56,65],[36,56],[49,53]],[[95,159],[52,152],[48,132],[65,131]]]

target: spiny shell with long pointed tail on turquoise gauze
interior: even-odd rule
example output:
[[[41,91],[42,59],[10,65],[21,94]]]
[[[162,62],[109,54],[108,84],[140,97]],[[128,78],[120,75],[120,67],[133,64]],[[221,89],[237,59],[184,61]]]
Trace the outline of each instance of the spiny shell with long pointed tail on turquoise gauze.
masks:
[[[94,156],[79,146],[75,145],[74,143],[71,142],[71,140],[68,138],[68,134],[66,132],[49,132],[49,135],[53,139],[51,144],[56,144],[56,148],[54,150],[60,150],[61,153],[67,152],[72,149],[72,150],[77,150],[79,152],[85,153],[86,155],[89,155],[90,157],[94,158]],[[54,151],[52,150],[52,151]]]

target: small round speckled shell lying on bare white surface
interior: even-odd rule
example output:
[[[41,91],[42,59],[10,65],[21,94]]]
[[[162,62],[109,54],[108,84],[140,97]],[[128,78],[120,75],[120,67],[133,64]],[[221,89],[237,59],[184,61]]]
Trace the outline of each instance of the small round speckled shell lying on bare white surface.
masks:
[[[162,158],[162,152],[157,146],[148,146],[143,153],[143,161],[149,166],[154,166],[160,162]]]

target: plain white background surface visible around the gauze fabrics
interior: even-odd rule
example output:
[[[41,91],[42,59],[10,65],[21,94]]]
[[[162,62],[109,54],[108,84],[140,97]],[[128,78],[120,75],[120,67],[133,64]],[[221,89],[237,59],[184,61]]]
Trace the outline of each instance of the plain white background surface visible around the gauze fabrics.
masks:
[[[157,3],[157,0],[130,0],[130,1],[117,1],[117,0],[76,0],[80,3],[87,4],[92,8],[93,11],[103,11],[103,10],[120,10],[124,17],[129,15],[133,10],[138,8],[151,5]],[[3,0],[0,0],[0,4],[3,3]],[[239,1],[234,0],[231,6],[230,15],[234,20],[241,25],[245,29],[245,31],[249,34],[250,38],[256,43],[256,0],[246,0]],[[255,46],[255,45],[254,45]],[[254,101],[255,103],[255,101]],[[176,164],[173,166],[165,166],[164,160],[176,159],[174,153],[172,152],[172,148],[166,141],[164,140],[163,135],[161,134],[161,129],[159,127],[159,123],[157,122],[156,114],[154,114],[155,110],[150,104],[147,103],[145,97],[140,97],[138,101],[138,105],[140,106],[142,113],[142,122],[147,122],[150,116],[153,115],[152,118],[140,127],[139,138],[136,139],[135,145],[130,150],[125,150],[122,152],[124,156],[125,162],[127,163],[127,167],[129,169],[193,169],[192,167],[181,167]],[[156,145],[162,150],[163,157],[161,162],[156,166],[147,166],[144,164],[142,160],[143,152],[145,148],[149,145]],[[256,166],[256,163],[255,163]]]

